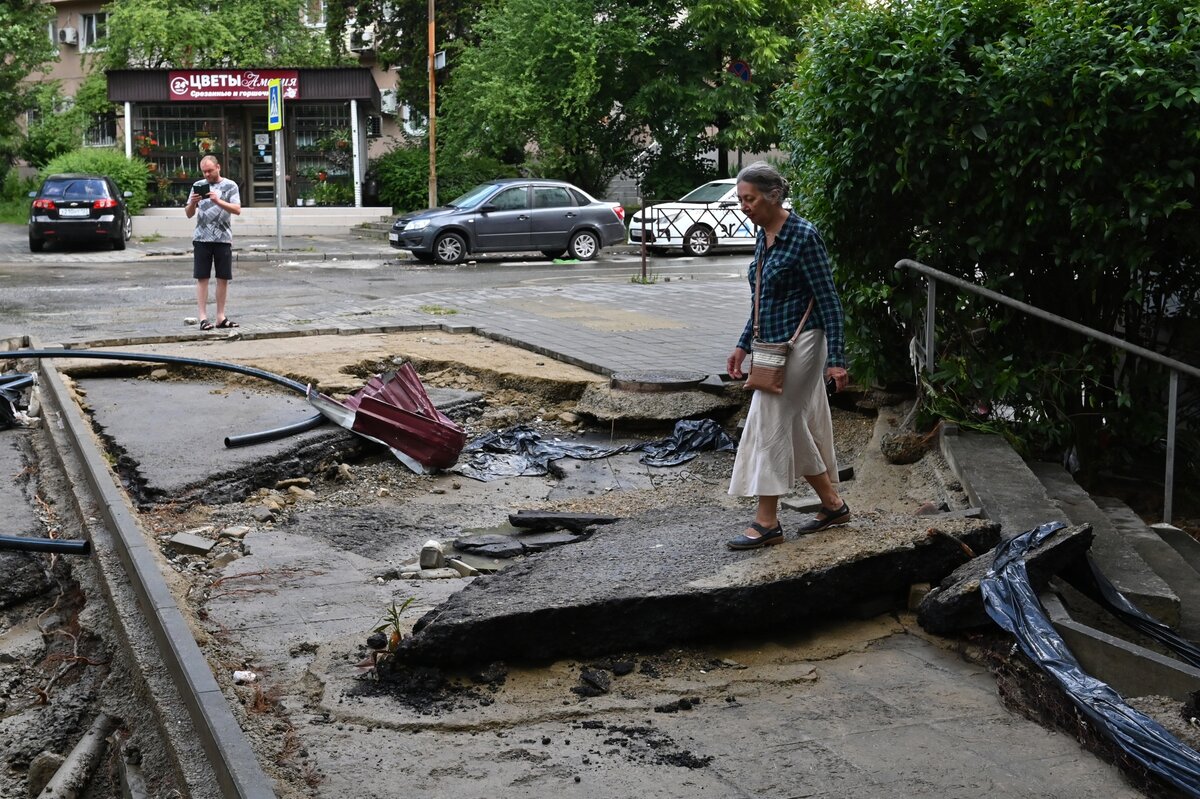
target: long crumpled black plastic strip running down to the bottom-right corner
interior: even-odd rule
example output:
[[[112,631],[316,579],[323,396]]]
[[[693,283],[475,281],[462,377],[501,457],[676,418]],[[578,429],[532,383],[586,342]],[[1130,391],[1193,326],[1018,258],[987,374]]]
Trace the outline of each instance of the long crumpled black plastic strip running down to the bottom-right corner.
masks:
[[[1189,795],[1200,797],[1200,753],[1150,716],[1134,710],[1108,684],[1080,668],[1046,618],[1025,570],[1025,554],[1064,524],[1050,522],[996,547],[980,582],[988,615],[1010,632],[1021,650],[1066,691],[1080,713],[1129,757]]]

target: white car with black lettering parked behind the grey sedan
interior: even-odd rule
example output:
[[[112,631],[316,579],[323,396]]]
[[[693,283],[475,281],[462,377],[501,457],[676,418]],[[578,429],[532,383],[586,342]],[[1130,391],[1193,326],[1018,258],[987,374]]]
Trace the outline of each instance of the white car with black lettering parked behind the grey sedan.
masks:
[[[676,203],[650,205],[629,222],[629,244],[642,244],[661,256],[683,247],[690,256],[707,256],[713,247],[754,247],[755,227],[738,203],[738,181],[714,180],[692,190]],[[643,222],[644,220],[644,222]]]

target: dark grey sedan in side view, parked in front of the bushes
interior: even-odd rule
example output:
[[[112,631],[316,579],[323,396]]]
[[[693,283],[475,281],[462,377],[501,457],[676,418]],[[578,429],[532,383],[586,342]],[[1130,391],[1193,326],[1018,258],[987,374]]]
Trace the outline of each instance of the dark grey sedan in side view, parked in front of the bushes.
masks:
[[[418,260],[457,264],[473,252],[595,258],[625,240],[625,209],[560,180],[503,179],[442,208],[396,220],[388,239]]]

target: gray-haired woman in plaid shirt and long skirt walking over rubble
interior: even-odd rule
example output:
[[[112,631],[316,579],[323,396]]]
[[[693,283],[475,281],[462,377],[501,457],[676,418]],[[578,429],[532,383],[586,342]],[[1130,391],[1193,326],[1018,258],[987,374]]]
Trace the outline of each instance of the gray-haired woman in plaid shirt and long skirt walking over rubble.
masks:
[[[730,494],[757,497],[755,519],[727,543],[732,549],[756,549],[781,543],[779,498],[802,475],[821,499],[815,518],[800,527],[814,533],[850,521],[850,506],[838,493],[838,463],[833,445],[833,419],[826,380],[846,388],[841,301],[821,234],[808,220],[784,208],[787,181],[768,163],[752,163],[738,173],[742,212],[758,227],[755,260],[750,264],[750,293],[755,292],[757,263],[762,260],[758,337],[786,342],[796,334],[809,302],[809,314],[787,358],[784,392],[755,391],[738,444]],[[754,317],[746,322],[726,362],[731,378],[744,377],[750,353]]]

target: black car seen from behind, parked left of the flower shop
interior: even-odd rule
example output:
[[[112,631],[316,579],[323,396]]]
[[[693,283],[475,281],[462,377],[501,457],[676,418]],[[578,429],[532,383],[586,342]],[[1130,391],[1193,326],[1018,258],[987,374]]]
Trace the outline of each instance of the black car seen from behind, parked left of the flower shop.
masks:
[[[47,241],[108,241],[125,250],[133,236],[133,217],[121,192],[106,175],[50,175],[30,193],[29,250],[41,252]]]

